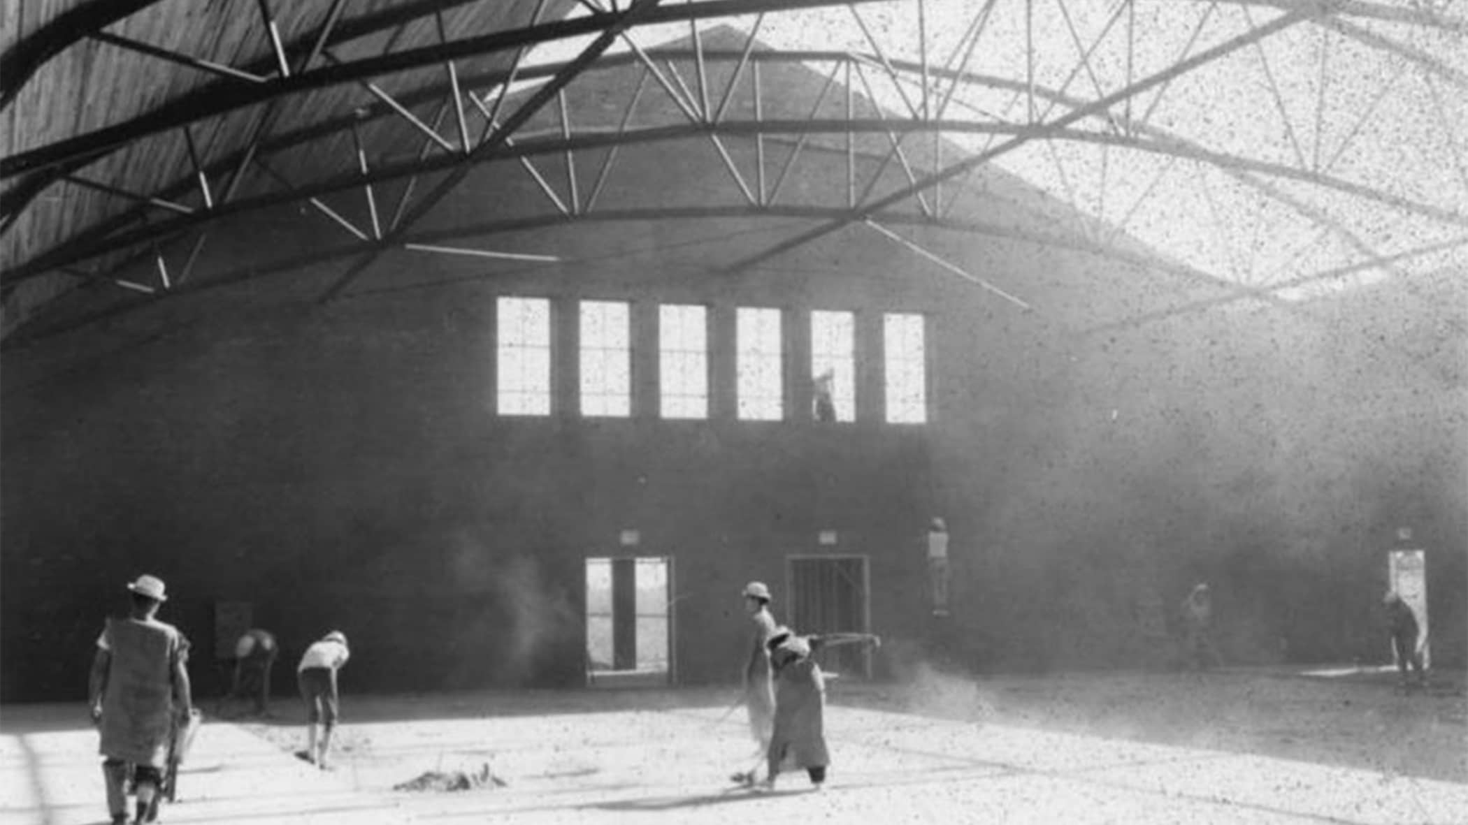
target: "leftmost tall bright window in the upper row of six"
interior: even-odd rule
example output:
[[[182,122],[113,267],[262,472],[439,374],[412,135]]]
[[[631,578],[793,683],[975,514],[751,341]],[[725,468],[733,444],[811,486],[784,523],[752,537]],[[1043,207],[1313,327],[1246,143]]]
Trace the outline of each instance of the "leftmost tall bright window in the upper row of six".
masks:
[[[501,298],[496,307],[501,415],[550,414],[550,301]]]

